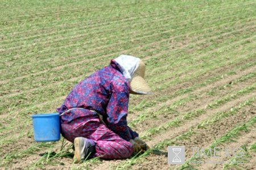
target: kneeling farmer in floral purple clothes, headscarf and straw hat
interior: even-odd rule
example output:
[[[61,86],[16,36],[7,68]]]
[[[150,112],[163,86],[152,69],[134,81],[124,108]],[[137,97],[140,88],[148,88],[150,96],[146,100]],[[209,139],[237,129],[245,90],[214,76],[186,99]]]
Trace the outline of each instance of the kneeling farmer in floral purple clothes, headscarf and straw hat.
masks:
[[[127,126],[129,94],[150,94],[145,65],[121,55],[77,84],[57,109],[61,134],[74,143],[76,162],[87,157],[125,159],[145,146]]]

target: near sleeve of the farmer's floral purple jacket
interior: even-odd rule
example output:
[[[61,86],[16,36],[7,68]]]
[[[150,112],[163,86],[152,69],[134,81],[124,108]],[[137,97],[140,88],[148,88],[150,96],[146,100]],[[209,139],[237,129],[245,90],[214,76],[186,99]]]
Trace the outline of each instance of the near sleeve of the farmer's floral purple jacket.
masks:
[[[106,108],[108,126],[115,134],[129,141],[134,135],[126,121],[130,86],[127,82],[114,82],[110,86],[112,94]]]

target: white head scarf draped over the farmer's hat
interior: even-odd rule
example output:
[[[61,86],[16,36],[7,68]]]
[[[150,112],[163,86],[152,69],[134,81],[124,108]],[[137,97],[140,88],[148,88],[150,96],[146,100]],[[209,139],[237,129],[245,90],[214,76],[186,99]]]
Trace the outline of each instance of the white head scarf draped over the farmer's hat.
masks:
[[[139,67],[139,61],[141,59],[134,56],[121,55],[114,60],[120,65],[123,76],[125,76],[128,81],[131,81],[131,76],[133,76],[133,73]]]

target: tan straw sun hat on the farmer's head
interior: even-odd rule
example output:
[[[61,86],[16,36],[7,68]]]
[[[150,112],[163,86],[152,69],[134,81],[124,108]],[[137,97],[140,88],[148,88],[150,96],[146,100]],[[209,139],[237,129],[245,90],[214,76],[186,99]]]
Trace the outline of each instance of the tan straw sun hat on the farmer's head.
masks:
[[[139,67],[131,76],[131,92],[132,94],[152,94],[150,87],[144,80],[145,76],[145,64],[142,60],[139,61]]]

